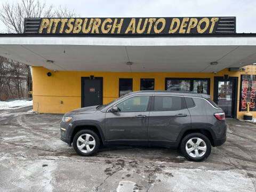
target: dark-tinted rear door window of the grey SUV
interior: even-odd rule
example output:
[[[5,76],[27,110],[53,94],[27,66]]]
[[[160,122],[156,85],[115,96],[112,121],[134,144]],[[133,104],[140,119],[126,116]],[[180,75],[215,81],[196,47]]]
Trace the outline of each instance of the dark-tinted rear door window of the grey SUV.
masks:
[[[183,97],[155,96],[154,101],[155,111],[185,109],[185,100]]]

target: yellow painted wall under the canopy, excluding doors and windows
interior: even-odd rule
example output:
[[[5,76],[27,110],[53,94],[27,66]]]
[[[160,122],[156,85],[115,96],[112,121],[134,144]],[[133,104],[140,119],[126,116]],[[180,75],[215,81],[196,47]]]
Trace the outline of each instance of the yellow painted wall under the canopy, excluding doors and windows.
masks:
[[[238,93],[240,93],[241,72],[231,72],[223,69],[213,73],[130,73],[130,72],[95,72],[95,71],[51,71],[43,67],[33,67],[33,108],[39,113],[67,113],[81,107],[81,77],[103,77],[103,104],[119,95],[119,78],[133,78],[133,91],[140,90],[140,78],[155,78],[155,90],[165,89],[166,77],[210,78],[210,94],[213,97],[214,76],[229,75],[238,77]],[[61,101],[63,103],[61,104]],[[242,118],[244,112],[239,112],[239,94],[237,101],[237,117]],[[253,112],[256,117],[256,112]]]

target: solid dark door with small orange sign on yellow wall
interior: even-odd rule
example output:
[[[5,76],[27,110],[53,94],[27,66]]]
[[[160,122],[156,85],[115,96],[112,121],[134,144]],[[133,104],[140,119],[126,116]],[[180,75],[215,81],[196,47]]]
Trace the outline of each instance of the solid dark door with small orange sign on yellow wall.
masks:
[[[82,107],[102,105],[102,77],[82,77]]]

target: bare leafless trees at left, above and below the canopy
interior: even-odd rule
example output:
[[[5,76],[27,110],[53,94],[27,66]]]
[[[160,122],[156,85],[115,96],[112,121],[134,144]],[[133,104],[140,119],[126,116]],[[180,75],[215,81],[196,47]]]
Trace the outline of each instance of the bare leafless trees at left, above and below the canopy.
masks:
[[[75,13],[74,11],[70,11],[66,7],[61,6],[59,6],[58,9],[53,9],[53,5],[46,6],[45,2],[41,3],[39,0],[21,0],[15,4],[6,2],[0,8],[0,20],[7,27],[7,33],[21,34],[24,30],[25,18],[41,17],[75,17]],[[14,77],[15,81],[13,79]],[[24,94],[21,86],[22,79],[24,78],[27,81],[27,90],[31,91],[32,79],[30,67],[20,62],[9,61],[0,57],[0,88],[2,91],[7,91],[5,98],[26,97],[27,94]],[[10,83],[9,81],[12,82]]]

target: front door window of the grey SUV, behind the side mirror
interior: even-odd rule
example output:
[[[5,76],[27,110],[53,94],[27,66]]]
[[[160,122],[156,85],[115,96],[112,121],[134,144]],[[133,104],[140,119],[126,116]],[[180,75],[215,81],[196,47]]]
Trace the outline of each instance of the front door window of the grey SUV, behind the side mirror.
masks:
[[[121,112],[146,111],[148,108],[149,97],[147,95],[135,96],[126,99],[116,105]]]

